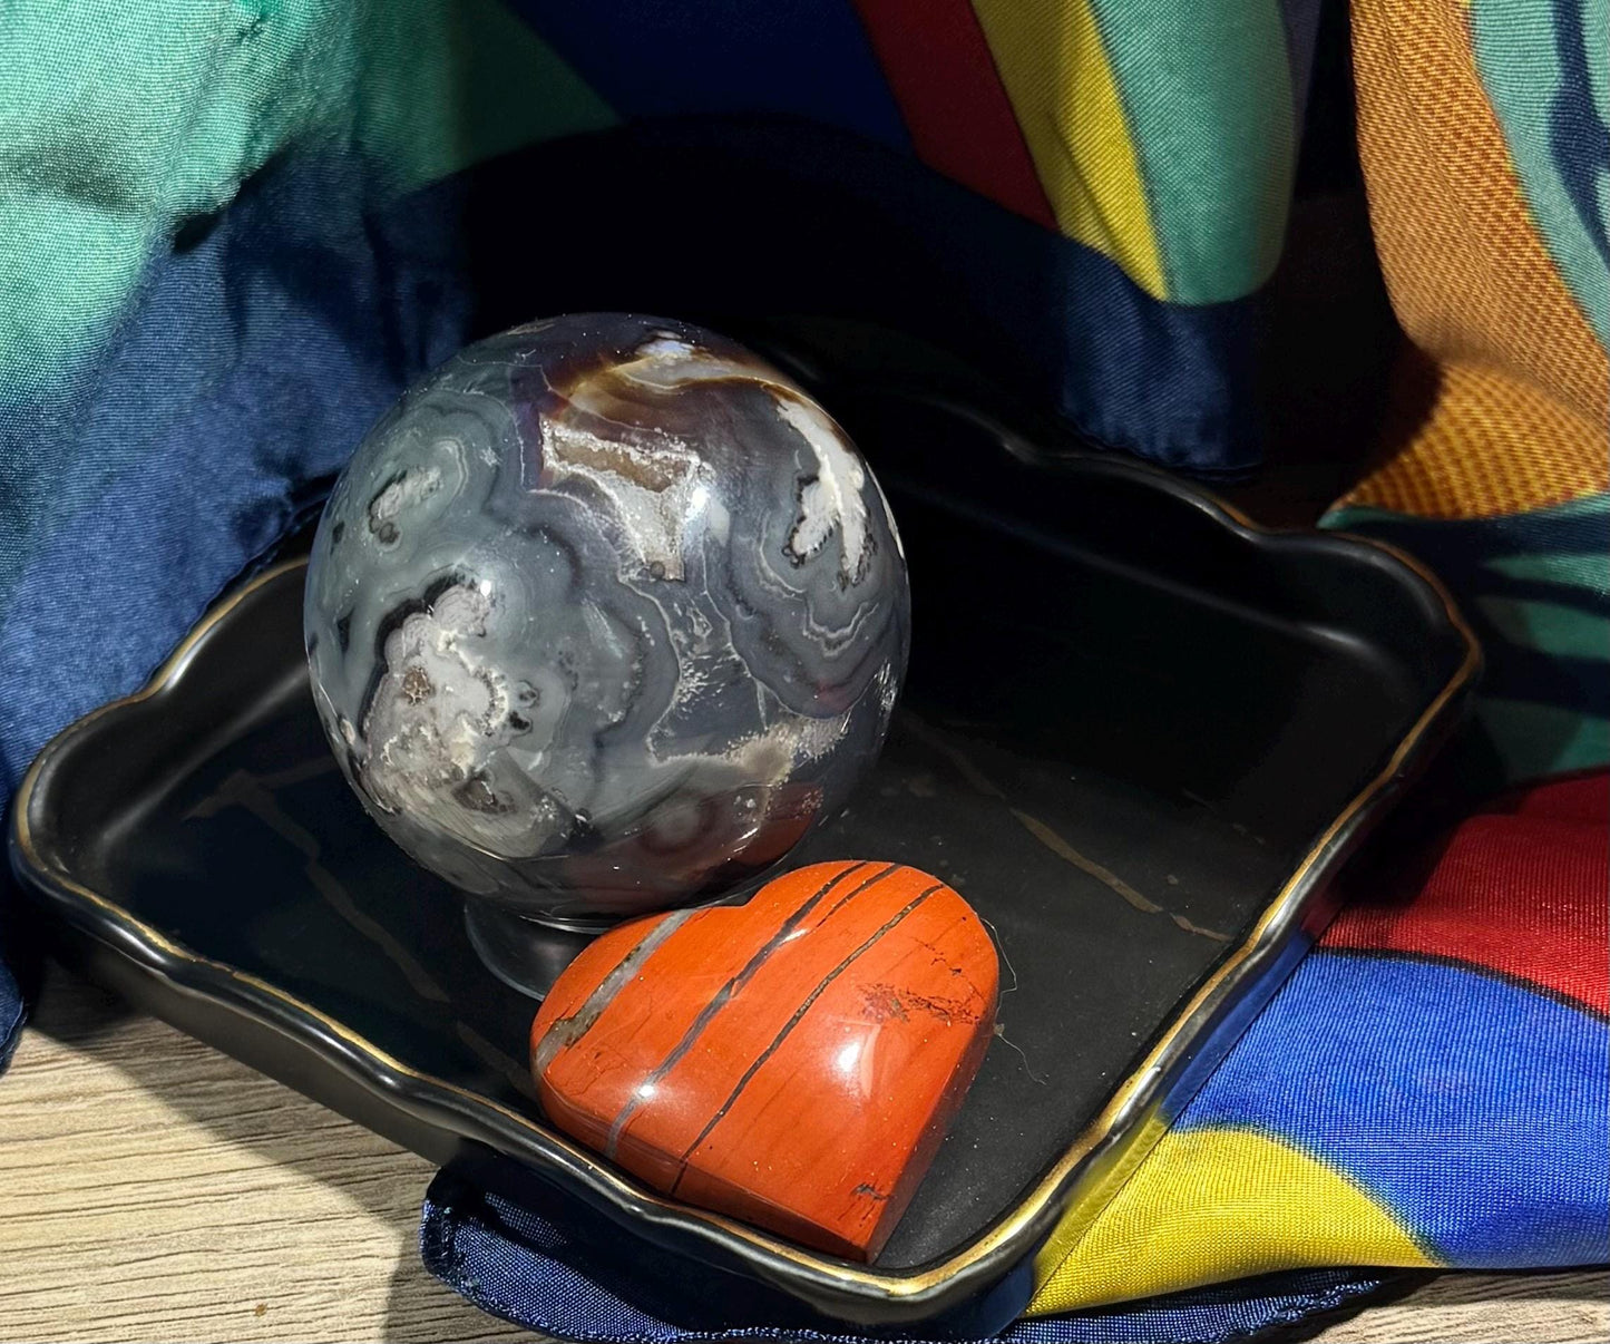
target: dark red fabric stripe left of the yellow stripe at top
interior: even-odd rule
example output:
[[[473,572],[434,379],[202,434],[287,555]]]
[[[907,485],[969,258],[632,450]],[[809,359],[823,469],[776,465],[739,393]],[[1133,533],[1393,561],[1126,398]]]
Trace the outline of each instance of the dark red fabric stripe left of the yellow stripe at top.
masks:
[[[969,0],[855,0],[918,156],[1056,229]]]

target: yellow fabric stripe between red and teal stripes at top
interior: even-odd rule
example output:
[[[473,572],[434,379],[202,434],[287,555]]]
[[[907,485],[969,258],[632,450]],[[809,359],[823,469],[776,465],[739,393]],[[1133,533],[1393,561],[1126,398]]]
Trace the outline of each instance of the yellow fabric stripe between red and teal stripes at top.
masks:
[[[1169,298],[1113,64],[1090,0],[974,0],[1061,230]]]

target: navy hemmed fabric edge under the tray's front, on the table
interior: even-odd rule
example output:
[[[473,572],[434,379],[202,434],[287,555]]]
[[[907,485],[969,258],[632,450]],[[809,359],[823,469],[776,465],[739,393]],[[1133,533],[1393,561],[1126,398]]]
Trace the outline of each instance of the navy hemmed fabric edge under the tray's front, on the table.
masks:
[[[1027,1297],[1027,1283],[1008,1283],[1003,1301],[974,1304],[913,1331],[861,1334],[810,1317],[757,1283],[638,1241],[557,1193],[520,1206],[449,1173],[436,1177],[425,1198],[420,1254],[433,1275],[483,1310],[557,1339],[599,1344],[989,1338],[1011,1344],[1216,1344],[1331,1310],[1383,1283],[1380,1273],[1354,1270],[1280,1275],[1124,1310],[1006,1323],[1014,1312],[1003,1315],[1001,1309],[1013,1296]]]

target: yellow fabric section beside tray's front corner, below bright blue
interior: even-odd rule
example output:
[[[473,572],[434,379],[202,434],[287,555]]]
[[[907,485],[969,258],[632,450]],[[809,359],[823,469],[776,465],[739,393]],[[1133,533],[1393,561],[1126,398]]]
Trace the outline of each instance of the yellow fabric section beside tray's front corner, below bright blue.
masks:
[[[1167,1133],[1072,1247],[1035,1262],[1030,1315],[1274,1270],[1436,1265],[1340,1172],[1241,1130]]]

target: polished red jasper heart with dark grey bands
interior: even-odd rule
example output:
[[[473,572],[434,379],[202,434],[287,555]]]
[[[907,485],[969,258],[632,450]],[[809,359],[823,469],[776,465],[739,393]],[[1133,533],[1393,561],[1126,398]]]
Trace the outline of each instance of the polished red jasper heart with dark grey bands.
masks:
[[[531,1024],[549,1119],[658,1191],[837,1255],[889,1239],[984,1059],[979,916],[903,864],[612,929]]]

